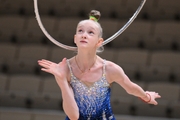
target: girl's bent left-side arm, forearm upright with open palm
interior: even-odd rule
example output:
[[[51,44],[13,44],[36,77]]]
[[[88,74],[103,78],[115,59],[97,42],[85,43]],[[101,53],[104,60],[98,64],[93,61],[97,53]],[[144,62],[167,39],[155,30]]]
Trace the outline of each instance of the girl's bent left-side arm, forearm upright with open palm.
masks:
[[[66,63],[66,58],[64,58],[59,64],[48,60],[39,60],[38,64],[43,67],[41,69],[42,71],[54,75],[62,92],[64,112],[70,120],[77,120],[79,118],[79,109],[74,99],[73,90],[67,80],[68,66]]]

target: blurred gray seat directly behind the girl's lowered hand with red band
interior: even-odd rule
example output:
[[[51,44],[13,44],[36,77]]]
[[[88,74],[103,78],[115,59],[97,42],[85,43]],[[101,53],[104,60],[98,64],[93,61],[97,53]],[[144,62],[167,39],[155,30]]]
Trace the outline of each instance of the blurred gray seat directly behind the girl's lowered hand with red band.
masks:
[[[178,84],[172,84],[168,82],[149,82],[147,84],[147,91],[155,91],[161,95],[160,99],[157,99],[158,105],[148,105],[140,100],[135,102],[137,106],[137,115],[140,116],[152,116],[152,117],[168,117],[174,114],[168,113],[168,109],[177,109],[178,107],[172,106],[179,100],[180,87]],[[173,93],[173,94],[172,94]]]

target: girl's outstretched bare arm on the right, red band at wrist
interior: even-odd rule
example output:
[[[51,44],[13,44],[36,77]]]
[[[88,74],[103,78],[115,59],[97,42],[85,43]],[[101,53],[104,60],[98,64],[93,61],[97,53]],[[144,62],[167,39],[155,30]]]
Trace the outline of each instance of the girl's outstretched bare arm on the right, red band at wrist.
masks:
[[[124,73],[123,69],[112,63],[107,62],[106,65],[107,78],[110,82],[116,82],[121,85],[127,93],[141,98],[143,101],[157,105],[156,98],[161,96],[154,91],[144,91],[139,85],[133,83],[128,76]]]

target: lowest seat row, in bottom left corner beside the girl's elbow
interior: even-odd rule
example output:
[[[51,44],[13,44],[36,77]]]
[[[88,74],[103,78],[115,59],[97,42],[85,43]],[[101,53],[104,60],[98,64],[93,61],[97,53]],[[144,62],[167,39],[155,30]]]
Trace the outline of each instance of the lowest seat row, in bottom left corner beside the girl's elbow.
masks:
[[[65,117],[62,111],[0,108],[1,120],[65,120]]]

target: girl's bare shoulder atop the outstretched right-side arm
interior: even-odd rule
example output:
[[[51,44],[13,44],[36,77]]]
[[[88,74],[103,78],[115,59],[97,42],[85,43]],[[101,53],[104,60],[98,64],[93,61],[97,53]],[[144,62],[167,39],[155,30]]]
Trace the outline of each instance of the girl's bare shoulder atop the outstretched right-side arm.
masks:
[[[125,73],[123,69],[114,62],[106,61],[106,77],[110,83],[123,79]]]

